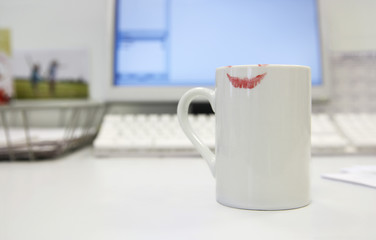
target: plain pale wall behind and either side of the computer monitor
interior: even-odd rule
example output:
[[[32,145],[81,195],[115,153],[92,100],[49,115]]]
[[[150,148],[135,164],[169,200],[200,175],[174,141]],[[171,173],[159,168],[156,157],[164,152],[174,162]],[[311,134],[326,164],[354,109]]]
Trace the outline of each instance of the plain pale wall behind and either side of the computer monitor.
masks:
[[[90,96],[103,100],[107,1],[0,0],[0,27],[12,29],[14,49],[87,48],[91,55]],[[376,50],[375,0],[320,0],[327,50]]]

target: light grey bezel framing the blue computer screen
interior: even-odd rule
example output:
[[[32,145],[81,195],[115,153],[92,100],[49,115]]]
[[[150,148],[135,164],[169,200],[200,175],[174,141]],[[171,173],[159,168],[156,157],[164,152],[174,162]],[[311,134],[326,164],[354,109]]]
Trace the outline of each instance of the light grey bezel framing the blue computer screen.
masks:
[[[198,86],[115,86],[114,85],[114,38],[116,27],[116,1],[108,1],[107,13],[107,31],[106,31],[106,84],[105,100],[109,102],[178,102],[181,96],[191,88]],[[325,34],[328,30],[325,28],[325,16],[321,9],[320,0],[316,0],[317,20],[319,26],[319,38],[321,48],[322,65],[322,84],[312,85],[312,101],[322,102],[329,100],[330,92],[330,73],[329,73],[329,50]],[[213,69],[214,75],[215,69]],[[203,86],[214,89],[215,86]]]

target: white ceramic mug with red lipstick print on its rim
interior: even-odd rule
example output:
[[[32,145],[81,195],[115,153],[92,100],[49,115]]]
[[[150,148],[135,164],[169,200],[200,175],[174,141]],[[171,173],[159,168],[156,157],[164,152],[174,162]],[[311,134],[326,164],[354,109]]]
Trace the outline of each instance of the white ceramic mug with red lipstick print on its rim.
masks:
[[[196,97],[215,112],[215,154],[188,121]],[[306,66],[240,65],[216,70],[215,90],[194,88],[179,101],[180,125],[216,179],[217,201],[255,210],[310,203],[311,72]]]

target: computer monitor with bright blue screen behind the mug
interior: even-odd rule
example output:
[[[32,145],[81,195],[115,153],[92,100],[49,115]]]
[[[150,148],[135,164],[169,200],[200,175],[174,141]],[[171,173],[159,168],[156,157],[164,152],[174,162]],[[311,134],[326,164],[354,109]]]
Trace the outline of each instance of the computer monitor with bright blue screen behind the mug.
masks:
[[[111,0],[109,101],[178,101],[228,65],[312,70],[327,97],[316,0]]]

